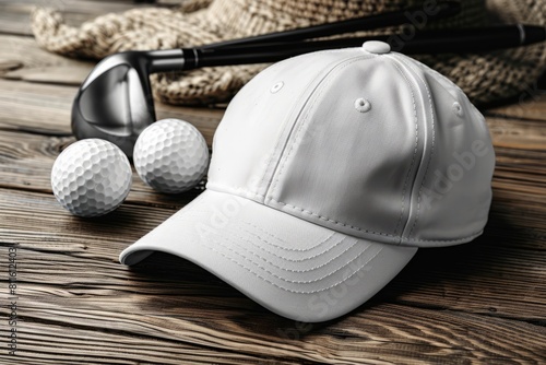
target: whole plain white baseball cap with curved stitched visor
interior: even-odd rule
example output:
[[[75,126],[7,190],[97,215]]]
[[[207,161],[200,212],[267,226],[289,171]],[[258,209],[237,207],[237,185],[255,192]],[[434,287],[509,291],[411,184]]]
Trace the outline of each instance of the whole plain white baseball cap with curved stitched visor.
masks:
[[[232,101],[206,190],[124,249],[186,258],[272,311],[358,307],[419,247],[482,234],[495,153],[451,81],[389,45],[275,63]]]

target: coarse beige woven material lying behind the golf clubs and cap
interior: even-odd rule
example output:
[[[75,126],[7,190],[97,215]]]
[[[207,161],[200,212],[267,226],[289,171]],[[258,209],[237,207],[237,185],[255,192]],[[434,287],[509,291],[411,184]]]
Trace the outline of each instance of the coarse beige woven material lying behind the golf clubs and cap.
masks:
[[[430,1],[430,0],[429,0]],[[224,39],[332,22],[423,3],[411,0],[190,0],[177,9],[145,8],[106,14],[71,27],[52,10],[33,12],[38,44],[61,55],[100,59],[129,49],[191,47]],[[462,13],[432,27],[468,27],[490,19],[545,25],[546,0],[461,0]],[[393,32],[396,30],[382,30]],[[400,30],[397,30],[400,31]],[[533,89],[546,67],[544,44],[487,55],[419,56],[459,84],[474,103]],[[229,101],[264,64],[218,67],[152,76],[154,95],[170,104]]]

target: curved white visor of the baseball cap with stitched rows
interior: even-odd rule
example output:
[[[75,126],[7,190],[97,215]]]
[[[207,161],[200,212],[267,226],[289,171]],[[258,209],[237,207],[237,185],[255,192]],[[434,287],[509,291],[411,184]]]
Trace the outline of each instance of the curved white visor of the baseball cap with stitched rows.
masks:
[[[188,259],[270,310],[317,322],[342,316],[389,283],[417,248],[347,236],[237,196],[205,190],[124,249]]]

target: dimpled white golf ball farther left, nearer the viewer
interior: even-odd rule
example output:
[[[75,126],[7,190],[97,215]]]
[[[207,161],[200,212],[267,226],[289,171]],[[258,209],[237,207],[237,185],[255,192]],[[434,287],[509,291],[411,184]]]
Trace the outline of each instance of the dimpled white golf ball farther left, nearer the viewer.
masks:
[[[79,216],[98,216],[115,210],[129,193],[131,181],[131,165],[124,153],[99,139],[72,143],[51,169],[55,197]]]

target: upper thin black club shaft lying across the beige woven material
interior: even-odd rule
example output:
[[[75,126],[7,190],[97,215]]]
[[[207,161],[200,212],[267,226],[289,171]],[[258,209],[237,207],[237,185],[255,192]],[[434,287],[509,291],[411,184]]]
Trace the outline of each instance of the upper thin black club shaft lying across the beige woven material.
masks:
[[[351,32],[378,30],[388,26],[412,24],[419,22],[424,26],[429,21],[436,21],[456,15],[461,11],[461,3],[446,1],[435,3],[435,7],[415,5],[401,11],[392,11],[365,17],[349,19],[345,21],[320,24],[309,27],[296,28],[284,32],[275,32],[248,38],[230,39],[201,47],[204,48],[229,48],[242,45],[289,43],[310,38],[328,37]],[[415,25],[415,24],[414,24]]]

